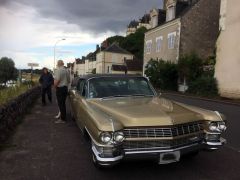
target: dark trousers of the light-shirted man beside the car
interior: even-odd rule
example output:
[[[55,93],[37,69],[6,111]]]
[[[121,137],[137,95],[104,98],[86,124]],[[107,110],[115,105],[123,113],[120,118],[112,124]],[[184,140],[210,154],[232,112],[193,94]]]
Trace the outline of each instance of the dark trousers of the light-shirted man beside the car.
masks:
[[[58,101],[58,107],[61,112],[61,119],[66,120],[66,99],[68,94],[67,86],[57,87],[56,96]]]

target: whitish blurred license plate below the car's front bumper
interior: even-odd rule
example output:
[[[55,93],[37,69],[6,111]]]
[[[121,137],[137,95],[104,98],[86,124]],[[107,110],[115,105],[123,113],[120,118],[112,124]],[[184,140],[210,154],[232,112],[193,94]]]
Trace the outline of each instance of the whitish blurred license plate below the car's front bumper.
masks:
[[[160,154],[159,164],[169,164],[180,160],[180,151],[166,152]]]

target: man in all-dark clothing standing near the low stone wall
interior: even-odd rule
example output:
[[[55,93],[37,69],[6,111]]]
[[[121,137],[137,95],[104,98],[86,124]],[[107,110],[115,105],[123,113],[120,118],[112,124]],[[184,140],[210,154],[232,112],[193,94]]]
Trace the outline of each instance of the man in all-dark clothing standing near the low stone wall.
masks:
[[[42,86],[42,105],[46,105],[45,96],[47,94],[48,100],[52,103],[52,85],[53,85],[53,76],[48,72],[47,68],[43,68],[43,73],[39,78],[39,83]]]

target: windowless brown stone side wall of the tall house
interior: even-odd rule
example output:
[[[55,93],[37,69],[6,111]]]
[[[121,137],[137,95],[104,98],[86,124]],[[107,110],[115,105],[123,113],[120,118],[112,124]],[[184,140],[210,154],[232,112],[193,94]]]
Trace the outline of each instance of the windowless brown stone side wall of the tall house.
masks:
[[[181,18],[180,56],[195,51],[213,55],[219,34],[220,0],[199,0]]]

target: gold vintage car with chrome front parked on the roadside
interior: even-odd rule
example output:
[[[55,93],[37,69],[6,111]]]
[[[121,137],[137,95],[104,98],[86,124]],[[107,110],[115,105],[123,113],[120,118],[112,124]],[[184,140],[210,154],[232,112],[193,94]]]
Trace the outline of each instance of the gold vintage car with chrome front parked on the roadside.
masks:
[[[226,130],[222,114],[158,96],[142,76],[76,78],[70,104],[77,125],[91,140],[98,167],[132,157],[167,164],[226,142],[221,137]]]

